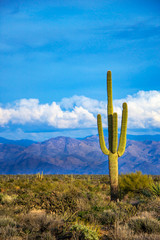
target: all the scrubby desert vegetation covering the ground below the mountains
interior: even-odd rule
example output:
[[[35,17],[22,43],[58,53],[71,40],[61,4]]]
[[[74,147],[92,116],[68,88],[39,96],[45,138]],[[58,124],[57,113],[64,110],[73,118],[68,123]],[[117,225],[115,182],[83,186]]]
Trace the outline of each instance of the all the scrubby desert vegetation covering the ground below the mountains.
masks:
[[[160,239],[160,176],[1,175],[0,239]]]

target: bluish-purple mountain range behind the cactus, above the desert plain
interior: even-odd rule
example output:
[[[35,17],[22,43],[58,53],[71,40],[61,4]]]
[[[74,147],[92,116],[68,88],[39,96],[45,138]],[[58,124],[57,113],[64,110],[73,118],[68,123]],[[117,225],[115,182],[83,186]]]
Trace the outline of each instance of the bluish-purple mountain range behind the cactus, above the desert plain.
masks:
[[[21,143],[21,142],[20,142]],[[106,140],[107,144],[107,140]],[[160,141],[128,140],[119,172],[160,174]],[[31,145],[0,143],[0,174],[108,174],[108,157],[98,136],[51,138]]]

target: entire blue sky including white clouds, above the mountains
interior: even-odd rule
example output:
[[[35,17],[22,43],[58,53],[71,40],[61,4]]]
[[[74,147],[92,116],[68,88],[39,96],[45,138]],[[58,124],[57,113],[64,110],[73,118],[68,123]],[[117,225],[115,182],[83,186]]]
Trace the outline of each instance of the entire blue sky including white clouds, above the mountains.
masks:
[[[128,133],[159,133],[159,13],[158,0],[1,0],[0,136],[97,134],[107,70]]]

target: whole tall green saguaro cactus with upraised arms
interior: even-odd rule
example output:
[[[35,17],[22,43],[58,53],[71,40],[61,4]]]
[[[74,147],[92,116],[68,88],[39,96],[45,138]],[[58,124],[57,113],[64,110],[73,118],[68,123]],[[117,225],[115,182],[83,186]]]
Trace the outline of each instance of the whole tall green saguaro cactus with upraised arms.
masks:
[[[122,156],[126,147],[126,133],[127,133],[127,118],[128,108],[127,103],[123,103],[121,134],[118,145],[118,116],[113,113],[112,101],[112,75],[111,71],[107,72],[107,98],[108,98],[108,142],[109,149],[105,145],[101,115],[97,115],[97,125],[99,133],[99,143],[104,154],[108,155],[109,160],[109,177],[111,186],[111,200],[118,200],[118,157]]]

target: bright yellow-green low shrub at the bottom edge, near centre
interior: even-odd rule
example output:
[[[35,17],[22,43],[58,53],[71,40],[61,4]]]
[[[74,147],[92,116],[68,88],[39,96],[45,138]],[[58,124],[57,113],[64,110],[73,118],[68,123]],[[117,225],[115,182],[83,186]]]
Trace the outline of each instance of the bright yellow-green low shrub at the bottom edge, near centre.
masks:
[[[96,229],[91,226],[86,226],[83,223],[76,223],[70,228],[74,239],[79,240],[99,240],[98,233]]]

